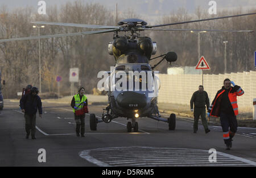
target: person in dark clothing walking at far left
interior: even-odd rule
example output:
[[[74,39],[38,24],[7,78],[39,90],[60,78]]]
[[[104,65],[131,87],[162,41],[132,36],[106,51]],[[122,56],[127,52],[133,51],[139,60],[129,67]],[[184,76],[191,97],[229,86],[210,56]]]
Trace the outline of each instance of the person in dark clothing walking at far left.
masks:
[[[24,118],[26,121],[25,129],[26,129],[26,138],[28,139],[30,136],[32,139],[35,138],[35,131],[36,131],[36,112],[39,111],[39,117],[42,118],[42,101],[41,98],[38,96],[38,88],[32,87],[31,92],[25,94],[20,99],[20,108],[22,109],[22,113],[24,113]]]

